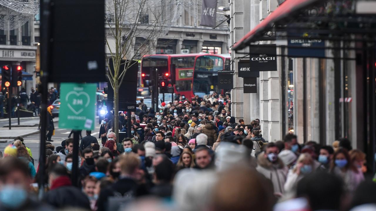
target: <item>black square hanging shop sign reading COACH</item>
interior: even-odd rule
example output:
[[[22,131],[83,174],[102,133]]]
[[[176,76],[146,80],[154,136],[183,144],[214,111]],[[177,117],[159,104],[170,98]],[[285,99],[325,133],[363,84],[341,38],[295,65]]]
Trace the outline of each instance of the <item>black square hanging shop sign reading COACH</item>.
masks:
[[[277,48],[275,44],[250,45],[250,67],[257,71],[277,71]]]

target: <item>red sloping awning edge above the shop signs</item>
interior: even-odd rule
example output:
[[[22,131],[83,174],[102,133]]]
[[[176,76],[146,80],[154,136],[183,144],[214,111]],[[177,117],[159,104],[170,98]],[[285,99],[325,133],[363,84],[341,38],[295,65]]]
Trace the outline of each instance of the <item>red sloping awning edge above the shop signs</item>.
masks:
[[[232,50],[242,50],[247,47],[250,42],[257,41],[257,37],[262,36],[266,30],[270,30],[276,21],[291,15],[291,13],[299,11],[312,3],[320,0],[286,0],[274,12],[261,21],[255,28],[241,38],[233,47]]]

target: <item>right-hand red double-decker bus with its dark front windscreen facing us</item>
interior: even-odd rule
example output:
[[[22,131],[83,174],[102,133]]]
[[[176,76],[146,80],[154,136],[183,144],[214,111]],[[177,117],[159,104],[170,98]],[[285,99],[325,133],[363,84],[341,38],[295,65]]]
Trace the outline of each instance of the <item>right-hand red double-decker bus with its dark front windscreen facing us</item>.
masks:
[[[218,89],[218,73],[224,69],[230,70],[230,54],[204,54],[196,56],[192,93],[204,97],[212,92],[224,94],[227,90]]]

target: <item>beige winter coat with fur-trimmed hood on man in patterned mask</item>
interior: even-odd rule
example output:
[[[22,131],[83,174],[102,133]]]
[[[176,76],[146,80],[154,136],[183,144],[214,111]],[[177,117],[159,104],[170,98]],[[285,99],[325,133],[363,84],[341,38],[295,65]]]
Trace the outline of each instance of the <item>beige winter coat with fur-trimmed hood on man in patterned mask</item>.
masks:
[[[277,158],[277,162],[273,164],[264,157],[264,152],[261,152],[257,157],[257,164],[256,170],[273,183],[274,193],[284,193],[288,168],[283,164],[282,160]]]

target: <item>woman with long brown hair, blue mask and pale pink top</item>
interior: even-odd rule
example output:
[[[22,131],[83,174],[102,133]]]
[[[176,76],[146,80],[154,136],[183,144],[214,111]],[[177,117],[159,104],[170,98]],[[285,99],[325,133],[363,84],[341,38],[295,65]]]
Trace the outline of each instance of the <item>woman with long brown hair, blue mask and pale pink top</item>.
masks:
[[[338,148],[334,153],[330,172],[343,179],[345,189],[349,192],[354,191],[359,183],[364,180],[363,173],[353,164],[349,153],[344,148]]]

